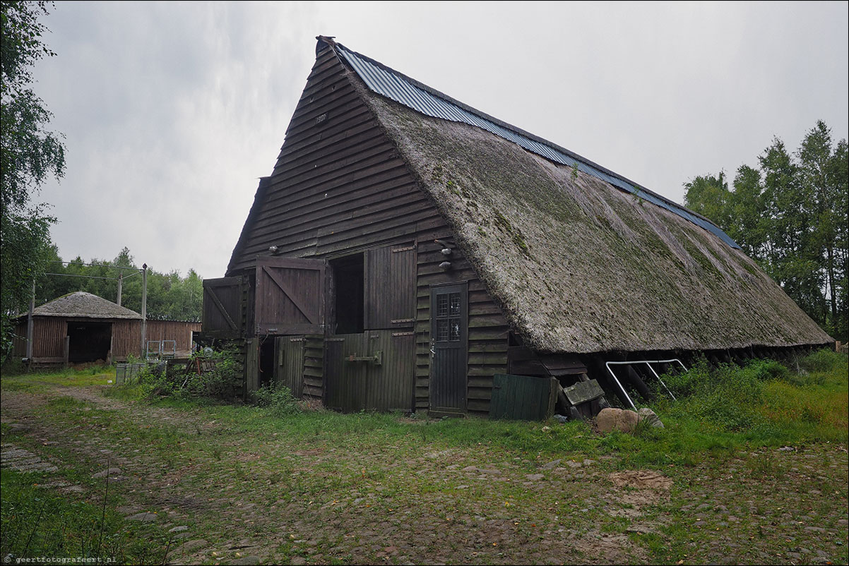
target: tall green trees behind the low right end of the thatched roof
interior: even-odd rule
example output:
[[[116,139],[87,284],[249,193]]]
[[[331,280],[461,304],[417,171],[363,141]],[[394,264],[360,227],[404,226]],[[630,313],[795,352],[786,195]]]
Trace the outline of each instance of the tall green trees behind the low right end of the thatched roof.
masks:
[[[790,154],[773,138],[757,166],[741,165],[731,188],[718,175],[684,184],[684,204],[714,221],[825,332],[846,342],[849,300],[849,166],[818,121]]]

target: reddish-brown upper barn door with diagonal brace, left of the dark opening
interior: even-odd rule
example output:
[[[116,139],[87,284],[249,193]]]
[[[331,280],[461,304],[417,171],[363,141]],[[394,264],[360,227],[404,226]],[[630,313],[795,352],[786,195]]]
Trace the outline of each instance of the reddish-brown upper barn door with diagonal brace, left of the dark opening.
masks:
[[[256,259],[256,334],[324,333],[324,261]]]

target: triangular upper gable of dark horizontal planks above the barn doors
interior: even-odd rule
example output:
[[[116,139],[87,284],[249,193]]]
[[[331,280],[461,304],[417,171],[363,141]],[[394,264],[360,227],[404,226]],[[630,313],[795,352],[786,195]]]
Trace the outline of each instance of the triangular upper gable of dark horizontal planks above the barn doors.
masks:
[[[228,274],[272,245],[290,257],[341,255],[441,223],[348,73],[331,50],[319,55]]]

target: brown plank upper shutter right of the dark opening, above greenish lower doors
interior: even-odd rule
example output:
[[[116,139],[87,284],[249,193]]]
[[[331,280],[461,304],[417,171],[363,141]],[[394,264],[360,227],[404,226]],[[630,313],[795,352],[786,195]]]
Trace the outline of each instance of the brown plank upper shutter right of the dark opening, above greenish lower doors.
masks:
[[[411,327],[416,317],[416,249],[369,249],[365,265],[365,328]]]

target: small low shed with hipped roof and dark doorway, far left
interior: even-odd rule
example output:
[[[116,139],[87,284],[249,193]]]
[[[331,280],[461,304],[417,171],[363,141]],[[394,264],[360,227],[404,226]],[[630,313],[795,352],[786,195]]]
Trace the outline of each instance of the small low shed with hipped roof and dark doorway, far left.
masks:
[[[18,318],[13,355],[27,356],[27,316]],[[146,341],[173,341],[177,355],[188,356],[192,332],[200,322],[147,321]],[[87,361],[127,361],[142,351],[142,316],[97,295],[77,291],[32,311],[31,367],[66,366]]]

